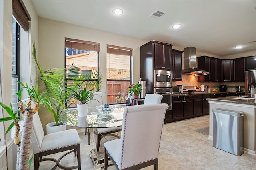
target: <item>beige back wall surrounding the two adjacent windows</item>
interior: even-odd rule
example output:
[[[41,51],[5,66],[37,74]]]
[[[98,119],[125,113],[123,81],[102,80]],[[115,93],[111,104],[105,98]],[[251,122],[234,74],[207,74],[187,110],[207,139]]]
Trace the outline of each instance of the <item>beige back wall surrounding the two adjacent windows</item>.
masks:
[[[124,35],[108,33],[96,29],[81,27],[68,23],[39,18],[39,48],[38,61],[42,70],[64,67],[65,37],[93,41],[100,43],[100,73],[103,76],[102,91],[106,92],[106,45],[117,45],[133,49],[132,57],[132,82],[138,82],[140,78],[140,46],[147,43],[147,40],[136,39]],[[106,103],[106,94],[103,102]],[[53,116],[46,109],[42,109],[40,118],[45,125],[53,121]]]

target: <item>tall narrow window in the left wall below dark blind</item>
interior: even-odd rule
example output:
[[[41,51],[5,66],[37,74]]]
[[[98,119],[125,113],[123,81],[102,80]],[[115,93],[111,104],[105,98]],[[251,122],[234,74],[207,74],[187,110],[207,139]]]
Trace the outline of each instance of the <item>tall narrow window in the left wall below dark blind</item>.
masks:
[[[17,110],[16,103],[18,96],[16,93],[20,90],[20,25],[12,18],[12,109]],[[20,114],[20,113],[18,113]]]

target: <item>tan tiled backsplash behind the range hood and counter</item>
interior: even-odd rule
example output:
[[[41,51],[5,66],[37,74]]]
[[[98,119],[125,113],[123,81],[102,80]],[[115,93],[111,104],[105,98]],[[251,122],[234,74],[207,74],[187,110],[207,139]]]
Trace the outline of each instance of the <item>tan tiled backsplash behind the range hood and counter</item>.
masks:
[[[197,76],[193,75],[182,75],[182,81],[172,81],[172,86],[176,85],[184,85],[184,88],[194,88],[197,85],[204,85],[204,88],[206,89],[206,86],[209,84],[211,85],[211,88],[215,88],[216,91],[219,91],[220,85],[227,85],[227,91],[228,92],[236,92],[236,87],[240,86],[240,89],[242,92],[244,92],[244,82],[198,82],[197,81]]]

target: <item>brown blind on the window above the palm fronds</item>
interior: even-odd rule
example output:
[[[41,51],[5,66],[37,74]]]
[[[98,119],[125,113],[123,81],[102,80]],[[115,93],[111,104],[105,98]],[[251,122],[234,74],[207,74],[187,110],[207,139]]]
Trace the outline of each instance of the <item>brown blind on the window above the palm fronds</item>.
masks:
[[[70,49],[80,49],[100,52],[100,43],[83,41],[78,39],[65,38],[65,47]]]

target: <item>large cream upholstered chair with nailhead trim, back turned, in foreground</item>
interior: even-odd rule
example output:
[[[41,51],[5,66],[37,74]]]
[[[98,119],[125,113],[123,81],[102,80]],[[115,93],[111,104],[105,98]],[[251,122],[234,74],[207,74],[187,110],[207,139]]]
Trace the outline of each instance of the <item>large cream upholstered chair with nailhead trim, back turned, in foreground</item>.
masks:
[[[109,157],[118,170],[137,170],[150,165],[158,170],[158,153],[167,108],[165,103],[126,106],[121,138],[104,143],[104,169],[108,169]]]

